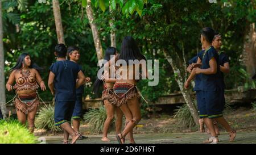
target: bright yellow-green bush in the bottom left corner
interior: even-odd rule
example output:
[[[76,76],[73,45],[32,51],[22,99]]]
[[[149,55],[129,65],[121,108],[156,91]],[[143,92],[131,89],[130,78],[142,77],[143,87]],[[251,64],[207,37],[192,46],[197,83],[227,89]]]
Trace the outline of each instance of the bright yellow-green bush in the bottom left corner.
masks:
[[[34,135],[18,120],[0,120],[0,144],[34,144]]]

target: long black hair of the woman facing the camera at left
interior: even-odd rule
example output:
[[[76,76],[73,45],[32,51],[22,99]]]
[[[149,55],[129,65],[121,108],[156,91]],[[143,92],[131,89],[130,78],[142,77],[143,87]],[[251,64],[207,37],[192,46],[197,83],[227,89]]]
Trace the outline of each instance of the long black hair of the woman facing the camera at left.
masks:
[[[13,70],[15,69],[22,69],[22,64],[25,64],[25,57],[26,56],[30,56],[28,55],[28,53],[22,53],[19,57],[18,60],[15,64],[15,66],[13,68],[10,69],[10,73],[13,72]],[[35,64],[32,60],[31,60],[31,65],[28,66],[28,68],[34,68],[36,70],[38,70],[38,72],[42,71],[43,68],[40,68],[37,64]]]

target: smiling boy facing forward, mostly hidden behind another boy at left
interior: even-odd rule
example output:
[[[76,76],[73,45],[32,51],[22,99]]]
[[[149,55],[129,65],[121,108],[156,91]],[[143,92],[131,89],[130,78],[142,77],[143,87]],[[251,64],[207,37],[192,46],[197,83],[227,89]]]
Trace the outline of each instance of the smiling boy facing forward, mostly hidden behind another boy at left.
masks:
[[[68,56],[69,60],[77,63],[80,58],[80,52],[79,48],[71,46],[68,47]],[[80,65],[79,65],[80,66]],[[81,66],[80,66],[81,68]],[[90,82],[90,78],[86,77],[85,82]],[[79,127],[80,127],[80,120],[82,117],[82,94],[84,94],[84,85],[80,86],[79,88],[76,89],[76,103],[75,103],[75,108],[72,114],[72,124],[73,128],[76,132],[79,132]],[[80,136],[81,139],[86,139],[88,137],[85,136]]]

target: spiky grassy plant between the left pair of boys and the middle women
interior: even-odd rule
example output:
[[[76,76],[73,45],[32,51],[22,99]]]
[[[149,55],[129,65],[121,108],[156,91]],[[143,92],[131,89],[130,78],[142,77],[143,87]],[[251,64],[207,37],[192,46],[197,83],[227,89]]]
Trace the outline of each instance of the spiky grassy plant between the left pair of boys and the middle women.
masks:
[[[106,110],[104,106],[100,106],[98,109],[90,109],[89,112],[84,114],[84,120],[86,123],[89,123],[89,129],[93,133],[101,133],[106,117]],[[112,124],[113,122],[110,126]]]

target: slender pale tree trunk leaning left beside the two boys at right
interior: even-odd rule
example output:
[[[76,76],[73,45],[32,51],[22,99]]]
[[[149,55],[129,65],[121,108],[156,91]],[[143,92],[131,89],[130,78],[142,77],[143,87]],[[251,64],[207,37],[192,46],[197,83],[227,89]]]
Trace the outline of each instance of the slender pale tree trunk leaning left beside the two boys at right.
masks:
[[[199,122],[198,122],[199,115],[197,113],[195,104],[193,104],[193,102],[192,102],[191,91],[184,89],[184,78],[181,76],[181,72],[180,72],[179,68],[177,68],[177,65],[175,64],[172,57],[168,55],[167,51],[164,51],[164,56],[166,56],[168,62],[170,63],[170,65],[172,66],[172,69],[174,70],[175,80],[180,87],[180,91],[185,99],[185,102],[187,103],[187,106],[191,112],[191,115],[193,116],[193,119],[194,119],[196,125],[199,125]]]

